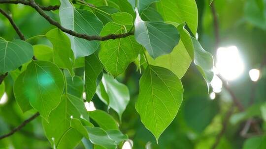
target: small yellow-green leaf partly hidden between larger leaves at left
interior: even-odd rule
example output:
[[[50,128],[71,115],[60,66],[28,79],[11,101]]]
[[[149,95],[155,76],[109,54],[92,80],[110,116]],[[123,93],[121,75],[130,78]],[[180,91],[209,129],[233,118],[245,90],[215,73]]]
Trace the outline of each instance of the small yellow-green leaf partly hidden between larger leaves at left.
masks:
[[[38,60],[53,62],[53,49],[46,45],[34,45],[34,56]]]

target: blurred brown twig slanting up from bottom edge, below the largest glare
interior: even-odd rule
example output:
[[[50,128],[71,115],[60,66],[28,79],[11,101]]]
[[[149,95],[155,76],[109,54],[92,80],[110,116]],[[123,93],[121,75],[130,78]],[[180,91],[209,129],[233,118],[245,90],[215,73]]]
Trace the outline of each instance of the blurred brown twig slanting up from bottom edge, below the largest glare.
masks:
[[[225,116],[225,118],[223,120],[222,129],[221,129],[220,133],[216,136],[215,143],[213,144],[211,149],[215,149],[218,146],[223,134],[226,131],[226,128],[227,128],[227,125],[228,125],[228,122],[229,122],[229,118],[231,117],[232,114],[233,114],[233,106],[231,106],[229,108],[229,110],[227,111],[226,116]]]

